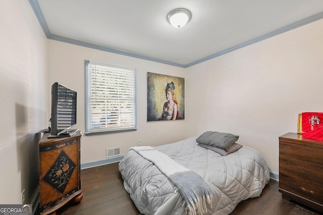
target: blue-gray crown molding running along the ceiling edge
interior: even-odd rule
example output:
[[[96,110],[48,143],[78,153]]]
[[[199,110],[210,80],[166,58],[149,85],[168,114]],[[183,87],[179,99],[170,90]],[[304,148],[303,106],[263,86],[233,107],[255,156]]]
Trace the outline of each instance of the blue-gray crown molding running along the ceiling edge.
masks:
[[[303,25],[309,24],[311,22],[315,22],[317,20],[320,20],[323,18],[323,12],[319,12],[317,14],[314,14],[312,16],[309,16],[307,18],[304,18],[302,20],[299,20],[297,22],[294,22],[290,25],[284,26],[276,31],[264,34],[260,37],[254,38],[252,40],[249,40],[247,42],[241,43],[239,45],[233,46],[231,48],[228,48],[226,50],[220,51],[218,53],[212,54],[210,56],[204,57],[202,59],[196,60],[194,62],[188,63],[188,64],[179,64],[179,63],[174,63],[174,62],[170,62],[170,61],[166,61],[166,60],[160,60],[160,59],[156,59],[156,58],[152,58],[152,57],[147,57],[147,56],[143,56],[143,55],[139,55],[139,54],[134,54],[134,53],[130,53],[127,51],[122,51],[122,50],[118,50],[118,49],[113,49],[113,48],[109,48],[109,47],[105,47],[105,46],[100,46],[100,45],[95,45],[95,44],[91,44],[91,43],[87,43],[87,42],[83,42],[83,41],[79,41],[79,40],[75,40],[75,39],[71,39],[71,38],[67,38],[67,37],[62,37],[59,35],[55,35],[55,34],[51,34],[49,31],[49,28],[47,26],[47,23],[45,21],[45,18],[42,14],[42,11],[40,10],[39,4],[37,2],[37,0],[28,0],[30,3],[30,6],[32,7],[38,22],[41,26],[41,28],[43,29],[46,37],[48,39],[52,39],[52,40],[57,40],[57,41],[61,41],[61,42],[66,42],[66,43],[70,43],[70,44],[74,44],[74,45],[79,45],[79,46],[84,46],[87,48],[93,48],[93,49],[97,49],[97,50],[101,50],[101,51],[106,51],[106,52],[111,52],[111,53],[115,53],[115,54],[121,54],[121,55],[125,55],[125,56],[129,56],[129,57],[135,57],[135,58],[139,58],[139,59],[144,59],[144,60],[149,60],[149,61],[154,61],[154,62],[158,62],[158,63],[164,63],[164,64],[168,64],[168,65],[173,65],[173,66],[178,66],[178,67],[182,67],[182,68],[187,68],[193,65],[196,65],[198,63],[207,61],[209,59],[212,58],[216,58],[219,57],[221,55],[227,54],[231,51],[235,51],[237,49],[246,47],[248,45],[260,42],[262,40],[274,37],[276,35],[285,33],[287,31],[293,30],[295,28],[301,27]]]

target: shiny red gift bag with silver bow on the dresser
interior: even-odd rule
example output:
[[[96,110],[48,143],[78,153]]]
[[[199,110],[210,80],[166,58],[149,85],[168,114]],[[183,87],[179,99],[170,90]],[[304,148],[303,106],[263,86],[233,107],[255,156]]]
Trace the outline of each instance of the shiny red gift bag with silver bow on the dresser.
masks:
[[[323,140],[323,113],[302,113],[302,136]]]

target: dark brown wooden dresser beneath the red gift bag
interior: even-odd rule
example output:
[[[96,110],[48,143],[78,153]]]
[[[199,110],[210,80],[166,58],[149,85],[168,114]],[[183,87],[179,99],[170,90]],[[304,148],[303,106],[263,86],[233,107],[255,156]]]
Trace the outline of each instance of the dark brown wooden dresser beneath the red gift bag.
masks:
[[[279,137],[279,191],[323,212],[323,140],[297,133]]]

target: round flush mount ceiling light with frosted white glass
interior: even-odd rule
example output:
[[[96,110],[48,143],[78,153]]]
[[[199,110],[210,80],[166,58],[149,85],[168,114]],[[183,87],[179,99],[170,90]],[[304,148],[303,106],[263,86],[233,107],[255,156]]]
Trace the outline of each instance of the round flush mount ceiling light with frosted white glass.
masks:
[[[167,21],[175,28],[182,28],[190,21],[192,14],[189,10],[179,8],[171,11],[167,15]]]

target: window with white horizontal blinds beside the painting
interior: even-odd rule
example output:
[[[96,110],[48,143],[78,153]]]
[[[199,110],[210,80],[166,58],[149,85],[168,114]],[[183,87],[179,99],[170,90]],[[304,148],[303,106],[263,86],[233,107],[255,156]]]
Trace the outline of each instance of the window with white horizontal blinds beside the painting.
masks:
[[[85,60],[85,135],[133,130],[136,69]]]

